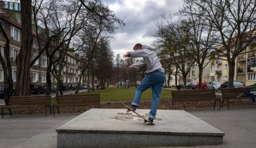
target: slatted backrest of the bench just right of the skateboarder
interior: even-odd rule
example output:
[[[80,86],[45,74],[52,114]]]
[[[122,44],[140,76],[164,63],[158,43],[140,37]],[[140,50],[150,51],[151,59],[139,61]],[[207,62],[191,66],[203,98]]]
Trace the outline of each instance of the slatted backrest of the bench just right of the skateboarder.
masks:
[[[212,100],[216,98],[214,89],[185,89],[172,91],[172,101]]]

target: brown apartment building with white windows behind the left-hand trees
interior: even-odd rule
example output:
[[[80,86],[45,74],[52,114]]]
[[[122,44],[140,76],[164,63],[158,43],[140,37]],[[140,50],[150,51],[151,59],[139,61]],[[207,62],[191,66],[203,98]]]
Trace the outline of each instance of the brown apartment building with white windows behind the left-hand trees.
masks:
[[[15,58],[17,57],[20,46],[21,46],[21,30],[22,26],[20,24],[20,11],[18,11],[18,8],[20,5],[17,4],[18,2],[13,3],[7,3],[6,1],[0,1],[0,25],[5,30],[9,41],[10,41],[10,59],[11,59],[11,69],[12,69],[12,77],[15,85],[16,81],[16,63]],[[17,6],[17,7],[16,7]],[[3,9],[3,7],[11,7],[13,10],[10,9]],[[17,9],[16,9],[17,8]],[[11,12],[11,14],[10,14]],[[3,34],[0,34],[0,52],[1,55],[4,57],[3,54],[3,47],[5,46],[5,38],[3,38]],[[33,43],[33,49],[32,49],[32,59],[36,57],[39,50],[35,44]],[[59,56],[57,53],[55,55],[56,57]],[[31,60],[32,60],[31,59]],[[65,67],[62,71],[62,81],[63,83],[66,83],[67,85],[75,84],[78,82],[80,69],[79,67],[82,65],[82,61],[79,59],[78,55],[73,52],[68,52],[65,58]],[[1,68],[2,64],[0,63],[0,85],[3,85],[3,69]],[[34,63],[34,65],[30,69],[30,83],[40,83],[42,85],[46,84],[46,69],[48,67],[48,59],[46,57],[46,54],[42,54],[40,58]],[[58,65],[57,65],[58,69]],[[25,72],[25,71],[24,71]],[[51,76],[51,80],[53,82],[53,85],[57,84],[56,79]]]

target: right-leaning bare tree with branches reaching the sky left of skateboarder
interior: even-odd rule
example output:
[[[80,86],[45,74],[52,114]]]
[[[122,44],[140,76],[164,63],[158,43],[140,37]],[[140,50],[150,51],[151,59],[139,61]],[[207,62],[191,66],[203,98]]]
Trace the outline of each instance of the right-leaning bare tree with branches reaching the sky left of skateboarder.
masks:
[[[77,48],[77,52],[83,54],[87,59],[87,63],[82,69],[82,73],[79,76],[78,83],[81,83],[82,76],[92,63],[94,58],[94,52],[100,42],[100,40],[108,40],[111,38],[111,34],[115,33],[117,26],[124,25],[123,21],[119,20],[101,1],[82,1],[82,5],[90,11],[90,21],[86,24],[86,28],[82,29],[81,34],[79,34],[79,40],[77,44],[80,46]],[[121,26],[122,27],[122,26]],[[78,93],[76,89],[75,93]]]

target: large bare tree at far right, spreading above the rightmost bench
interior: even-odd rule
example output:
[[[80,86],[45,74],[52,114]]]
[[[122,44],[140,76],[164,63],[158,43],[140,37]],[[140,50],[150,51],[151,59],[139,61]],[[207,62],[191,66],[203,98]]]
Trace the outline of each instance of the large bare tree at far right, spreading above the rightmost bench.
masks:
[[[236,57],[256,39],[255,0],[185,1],[194,8],[191,15],[203,17],[212,24],[212,30],[216,34],[214,49],[220,57],[225,57],[222,60],[228,61],[228,87],[233,87]]]

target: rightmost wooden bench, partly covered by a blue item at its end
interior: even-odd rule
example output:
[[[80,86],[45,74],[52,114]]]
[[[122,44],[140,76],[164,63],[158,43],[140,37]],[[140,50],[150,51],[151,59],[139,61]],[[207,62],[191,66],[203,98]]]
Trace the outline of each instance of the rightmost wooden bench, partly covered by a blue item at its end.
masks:
[[[238,87],[238,88],[222,88],[222,108],[224,101],[227,100],[227,107],[229,110],[229,100],[243,100],[243,99],[251,99],[251,97],[238,97],[243,93],[248,92],[253,87]]]

